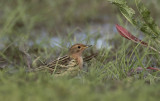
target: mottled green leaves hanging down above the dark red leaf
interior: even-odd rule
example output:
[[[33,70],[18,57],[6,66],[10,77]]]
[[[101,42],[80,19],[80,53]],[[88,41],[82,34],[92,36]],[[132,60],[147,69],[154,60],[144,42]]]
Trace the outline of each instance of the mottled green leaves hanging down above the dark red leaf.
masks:
[[[108,0],[112,4],[116,5],[122,15],[137,29],[144,32],[146,35],[151,38],[159,38],[160,37],[160,29],[150,16],[149,10],[145,7],[145,5],[141,2],[141,0],[135,0],[137,9],[139,14],[135,17],[135,11],[127,5],[126,0]]]

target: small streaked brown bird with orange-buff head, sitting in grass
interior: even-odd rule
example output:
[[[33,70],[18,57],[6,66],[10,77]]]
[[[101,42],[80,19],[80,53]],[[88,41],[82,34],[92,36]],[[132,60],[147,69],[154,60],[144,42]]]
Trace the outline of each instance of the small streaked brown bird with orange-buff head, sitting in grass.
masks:
[[[83,52],[87,48],[91,47],[92,45],[84,45],[84,44],[74,44],[72,45],[69,50],[68,54],[59,57],[44,66],[40,66],[39,69],[47,68],[52,73],[60,74],[67,70],[75,70],[75,69],[83,69]],[[86,58],[86,60],[90,59],[90,57]],[[78,68],[75,68],[78,67]]]

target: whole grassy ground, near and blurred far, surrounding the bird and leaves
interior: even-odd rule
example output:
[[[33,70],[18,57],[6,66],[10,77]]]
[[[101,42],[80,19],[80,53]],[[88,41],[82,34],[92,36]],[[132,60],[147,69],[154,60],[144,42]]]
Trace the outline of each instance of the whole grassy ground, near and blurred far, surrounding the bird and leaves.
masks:
[[[159,0],[143,3],[159,22]],[[107,0],[0,0],[0,100],[158,101],[159,71],[133,71],[160,67],[160,56],[121,38],[117,23],[147,40]],[[26,72],[75,43],[94,45],[84,55],[99,53],[76,77]]]

